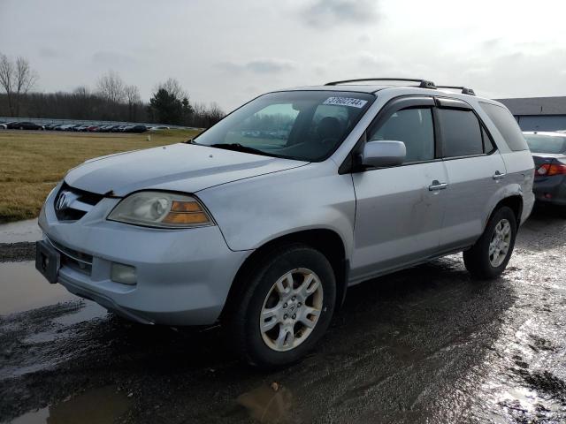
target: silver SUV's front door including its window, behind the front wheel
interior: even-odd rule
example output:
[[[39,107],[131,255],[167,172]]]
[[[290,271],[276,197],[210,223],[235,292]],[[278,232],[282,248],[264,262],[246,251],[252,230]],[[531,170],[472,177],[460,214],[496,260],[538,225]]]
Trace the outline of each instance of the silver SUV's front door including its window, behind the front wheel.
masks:
[[[356,190],[353,280],[400,268],[434,254],[440,243],[447,173],[437,155],[432,97],[390,102],[366,140],[405,143],[401,166],[352,174]]]

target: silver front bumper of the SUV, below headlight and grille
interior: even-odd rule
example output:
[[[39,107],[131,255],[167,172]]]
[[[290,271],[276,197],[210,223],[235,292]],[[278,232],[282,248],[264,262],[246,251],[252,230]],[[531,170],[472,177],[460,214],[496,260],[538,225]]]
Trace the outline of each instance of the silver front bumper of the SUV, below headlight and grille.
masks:
[[[115,223],[106,216],[119,199],[104,198],[75,222],[60,222],[54,190],[39,218],[44,239],[58,247],[57,283],[129,319],[167,325],[208,325],[218,320],[233,277],[249,255],[233,252],[218,226],[159,230]],[[88,266],[73,262],[88,258]],[[137,284],[111,281],[111,263],[135,267]],[[73,265],[74,264],[74,265]],[[83,264],[84,265],[84,264]]]

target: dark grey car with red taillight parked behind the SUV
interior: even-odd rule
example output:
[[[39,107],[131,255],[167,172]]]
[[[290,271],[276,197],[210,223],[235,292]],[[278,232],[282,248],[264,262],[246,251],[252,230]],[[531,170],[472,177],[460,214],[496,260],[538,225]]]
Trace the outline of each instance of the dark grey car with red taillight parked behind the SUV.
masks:
[[[537,201],[566,206],[566,133],[523,133],[534,160]]]

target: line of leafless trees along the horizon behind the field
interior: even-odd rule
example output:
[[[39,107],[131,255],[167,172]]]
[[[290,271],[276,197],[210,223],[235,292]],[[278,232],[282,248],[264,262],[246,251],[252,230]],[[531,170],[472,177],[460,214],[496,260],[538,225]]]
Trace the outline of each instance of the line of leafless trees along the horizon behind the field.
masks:
[[[73,92],[34,92],[39,75],[25,57],[11,60],[0,53],[0,116],[53,119],[147,122],[208,128],[225,113],[215,102],[189,101],[177,79],[166,79],[154,88],[149,102],[140,90],[128,85],[118,72],[109,71],[96,87],[76,87]]]

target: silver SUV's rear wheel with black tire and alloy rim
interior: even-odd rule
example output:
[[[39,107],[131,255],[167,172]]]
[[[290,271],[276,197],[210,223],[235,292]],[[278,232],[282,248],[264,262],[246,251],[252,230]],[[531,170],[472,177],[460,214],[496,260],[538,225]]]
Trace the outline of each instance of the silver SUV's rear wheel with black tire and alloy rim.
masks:
[[[479,279],[500,276],[509,263],[515,239],[515,213],[506,206],[497,209],[476,244],[463,253],[466,269]]]

